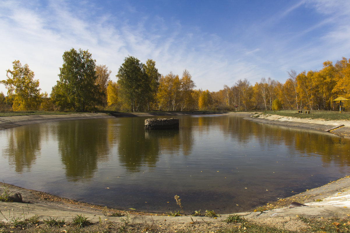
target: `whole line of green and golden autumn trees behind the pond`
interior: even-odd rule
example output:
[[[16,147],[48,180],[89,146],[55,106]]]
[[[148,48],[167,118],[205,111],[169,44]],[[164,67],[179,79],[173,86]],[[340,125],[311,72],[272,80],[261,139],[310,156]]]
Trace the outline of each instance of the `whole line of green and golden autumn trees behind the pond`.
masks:
[[[280,83],[261,78],[251,84],[246,78],[222,90],[195,89],[188,70],[182,76],[169,72],[161,75],[155,61],[146,63],[128,56],[120,65],[117,82],[112,71],[96,64],[88,50],[71,49],[63,53],[57,84],[48,93],[40,93],[34,72],[20,61],[13,62],[6,80],[1,80],[7,96],[0,93],[0,111],[249,111],[249,110],[335,110],[332,101],[350,97],[350,59],[343,57],[333,64],[323,63],[319,71],[290,70]]]

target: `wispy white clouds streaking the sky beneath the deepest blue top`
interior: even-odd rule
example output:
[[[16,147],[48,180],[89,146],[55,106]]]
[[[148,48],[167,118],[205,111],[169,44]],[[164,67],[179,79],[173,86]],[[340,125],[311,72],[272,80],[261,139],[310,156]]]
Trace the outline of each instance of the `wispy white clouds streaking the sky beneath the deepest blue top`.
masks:
[[[290,69],[319,69],[327,59],[350,56],[346,43],[350,5],[347,1],[341,2],[345,6],[332,3],[297,1],[258,26],[247,24],[241,36],[224,40],[223,35],[203,31],[198,25],[184,27],[181,19],[138,12],[131,2],[125,3],[124,12],[98,15],[92,9],[103,8],[90,1],[74,7],[63,0],[49,1],[47,6],[0,0],[0,43],[6,45],[0,47],[0,53],[6,55],[0,56],[0,80],[19,59],[35,72],[43,91],[50,92],[58,79],[63,52],[82,48],[89,49],[98,64],[109,66],[113,80],[124,58],[131,55],[142,62],[153,59],[164,75],[170,71],[181,75],[188,69],[197,88],[210,91],[244,78],[252,84],[261,77],[283,82]],[[292,36],[264,31],[268,27],[278,31],[276,21],[304,7],[322,14],[323,19]],[[131,21],[128,14],[138,14],[141,20]],[[304,40],[310,33],[318,35],[317,40]],[[241,41],[248,37],[250,44]],[[5,87],[0,85],[0,91],[6,92]]]

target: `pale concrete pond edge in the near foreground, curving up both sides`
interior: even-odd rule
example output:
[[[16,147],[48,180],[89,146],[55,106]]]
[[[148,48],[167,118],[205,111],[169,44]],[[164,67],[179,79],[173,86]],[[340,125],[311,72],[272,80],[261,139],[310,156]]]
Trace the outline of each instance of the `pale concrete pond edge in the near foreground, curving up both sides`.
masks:
[[[29,217],[36,214],[41,220],[49,217],[57,217],[58,219],[64,218],[66,221],[72,221],[72,218],[78,214],[83,214],[92,222],[98,222],[99,219],[102,219],[103,221],[109,220],[120,222],[121,218],[125,218],[105,216],[106,209],[104,209],[102,206],[77,202],[75,200],[50,195],[49,193],[29,190],[1,182],[0,185],[7,186],[12,192],[20,192],[23,197],[23,202],[25,202],[0,202],[0,210],[3,213],[3,216],[0,217],[0,221],[6,221],[5,217],[7,214],[10,216],[21,216],[23,211]],[[307,190],[292,197],[280,199],[275,203],[268,203],[267,206],[270,208],[268,211],[249,211],[237,214],[257,223],[264,223],[267,218],[289,218],[290,220],[290,218],[296,218],[298,216],[306,218],[349,218],[349,197],[350,176],[346,176],[318,188]],[[289,209],[288,206],[292,202],[301,202],[308,206]],[[107,213],[113,213],[115,211],[118,210],[108,209]],[[191,223],[192,221],[213,222],[222,221],[229,215],[222,214],[221,217],[214,219],[204,216],[170,217],[162,213],[128,212],[130,213],[130,221],[132,223],[149,223],[154,221],[160,223],[165,223],[165,221],[176,223]]]

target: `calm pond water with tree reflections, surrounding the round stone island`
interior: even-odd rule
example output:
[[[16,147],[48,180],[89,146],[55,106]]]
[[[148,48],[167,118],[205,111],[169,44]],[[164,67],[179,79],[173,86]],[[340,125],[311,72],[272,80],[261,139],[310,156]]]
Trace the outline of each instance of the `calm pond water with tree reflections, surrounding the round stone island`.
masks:
[[[1,130],[6,183],[123,210],[245,211],[349,175],[350,143],[331,133],[241,116],[56,121]]]

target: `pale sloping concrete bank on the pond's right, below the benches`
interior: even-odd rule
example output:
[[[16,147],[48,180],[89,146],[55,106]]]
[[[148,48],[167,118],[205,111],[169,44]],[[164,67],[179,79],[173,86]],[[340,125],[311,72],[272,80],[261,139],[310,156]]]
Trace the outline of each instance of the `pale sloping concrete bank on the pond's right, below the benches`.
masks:
[[[250,121],[269,123],[273,125],[303,127],[309,129],[322,130],[339,136],[350,137],[350,121],[348,120],[324,120],[297,117],[283,117],[271,114],[255,114],[244,118]],[[332,129],[335,128],[335,129]]]

